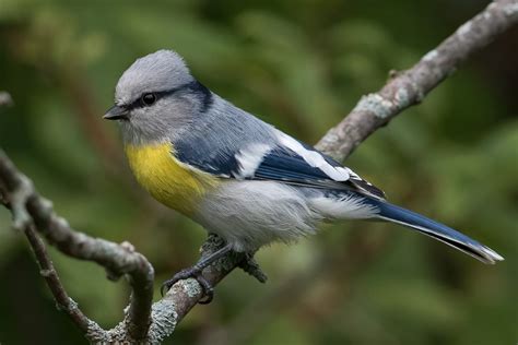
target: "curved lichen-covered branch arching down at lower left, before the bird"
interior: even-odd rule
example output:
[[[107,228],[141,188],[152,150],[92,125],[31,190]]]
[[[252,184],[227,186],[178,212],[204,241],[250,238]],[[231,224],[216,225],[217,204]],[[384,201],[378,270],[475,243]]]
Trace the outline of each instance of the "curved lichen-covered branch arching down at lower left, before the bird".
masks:
[[[127,331],[125,340],[146,338],[151,324],[154,278],[153,267],[149,261],[127,243],[117,245],[72,229],[63,218],[54,213],[51,203],[37,194],[30,180],[14,167],[1,150],[0,180],[7,189],[16,228],[27,229],[34,222],[35,228],[61,252],[98,263],[106,269],[110,279],[128,274],[133,293],[123,320],[123,328]],[[89,340],[110,338],[110,333],[95,325],[94,322],[89,322],[86,333]],[[84,324],[80,325],[83,326]]]

